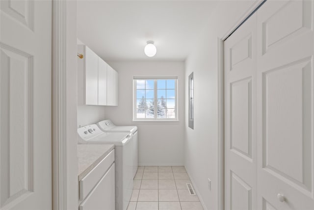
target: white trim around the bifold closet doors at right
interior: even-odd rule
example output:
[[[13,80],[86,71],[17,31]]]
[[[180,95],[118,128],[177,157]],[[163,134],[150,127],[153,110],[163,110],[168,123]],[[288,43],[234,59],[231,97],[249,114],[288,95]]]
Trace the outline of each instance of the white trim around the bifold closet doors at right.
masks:
[[[233,27],[223,36],[217,38],[217,79],[218,79],[218,210],[224,210],[224,40],[228,38],[262,3],[266,0],[256,0],[239,18]]]

